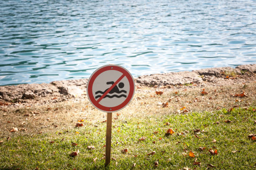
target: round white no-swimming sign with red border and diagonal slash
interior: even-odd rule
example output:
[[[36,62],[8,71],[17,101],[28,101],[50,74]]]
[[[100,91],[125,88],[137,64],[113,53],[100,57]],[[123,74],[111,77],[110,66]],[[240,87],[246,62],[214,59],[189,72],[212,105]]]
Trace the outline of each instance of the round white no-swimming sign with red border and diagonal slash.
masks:
[[[131,102],[135,91],[133,76],[120,65],[104,65],[92,73],[87,96],[103,112],[116,112]]]

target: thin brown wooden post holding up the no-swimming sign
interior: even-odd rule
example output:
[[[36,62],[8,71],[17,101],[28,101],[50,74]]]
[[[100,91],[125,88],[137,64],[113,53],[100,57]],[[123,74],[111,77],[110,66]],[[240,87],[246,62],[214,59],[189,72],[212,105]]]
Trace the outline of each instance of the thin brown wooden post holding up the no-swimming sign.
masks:
[[[112,112],[107,113],[107,133],[106,133],[106,153],[105,153],[105,167],[110,163],[111,153],[111,128],[112,128]]]

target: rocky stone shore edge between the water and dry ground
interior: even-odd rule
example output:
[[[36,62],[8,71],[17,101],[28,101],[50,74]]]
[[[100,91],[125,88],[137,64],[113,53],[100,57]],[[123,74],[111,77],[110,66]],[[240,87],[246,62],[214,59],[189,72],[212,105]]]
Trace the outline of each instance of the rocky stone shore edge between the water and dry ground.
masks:
[[[256,81],[256,64],[232,67],[216,67],[201,70],[169,72],[165,74],[143,75],[135,78],[136,87],[140,86],[177,86],[196,84],[205,86],[225,85],[241,81]],[[72,98],[87,98],[86,87],[88,79],[53,81],[42,84],[22,84],[0,86],[0,102],[27,103],[61,102]],[[43,99],[43,100],[42,100]]]

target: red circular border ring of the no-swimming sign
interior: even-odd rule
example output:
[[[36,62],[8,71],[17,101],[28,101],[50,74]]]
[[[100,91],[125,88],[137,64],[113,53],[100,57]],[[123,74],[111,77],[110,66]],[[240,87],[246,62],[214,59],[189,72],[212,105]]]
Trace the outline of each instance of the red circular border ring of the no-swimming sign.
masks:
[[[113,67],[113,69],[111,69],[111,67]],[[130,91],[129,91],[129,94],[128,94],[127,98],[125,99],[125,101],[115,107],[105,107],[103,105],[100,105],[99,103],[97,103],[97,101],[95,100],[93,93],[92,93],[92,85],[93,85],[93,82],[95,81],[96,77],[98,75],[100,75],[102,72],[105,72],[108,70],[117,70],[119,72],[122,72],[125,75],[125,77],[127,77],[128,81],[129,81],[129,85],[130,85]],[[97,109],[99,109],[103,112],[116,112],[118,110],[123,109],[126,105],[129,104],[129,102],[133,98],[134,90],[135,90],[135,85],[134,85],[134,80],[133,80],[131,73],[128,72],[128,70],[126,70],[125,68],[121,67],[120,65],[104,65],[104,66],[98,68],[97,70],[95,70],[95,72],[92,73],[92,75],[89,78],[88,83],[87,83],[88,99],[90,100],[92,105],[94,105]]]

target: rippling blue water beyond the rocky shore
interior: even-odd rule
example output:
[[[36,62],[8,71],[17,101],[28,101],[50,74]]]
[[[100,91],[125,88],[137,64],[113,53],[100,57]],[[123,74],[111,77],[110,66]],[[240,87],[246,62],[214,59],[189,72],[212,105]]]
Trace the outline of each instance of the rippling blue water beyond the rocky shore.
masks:
[[[0,85],[256,63],[255,0],[0,0]]]

